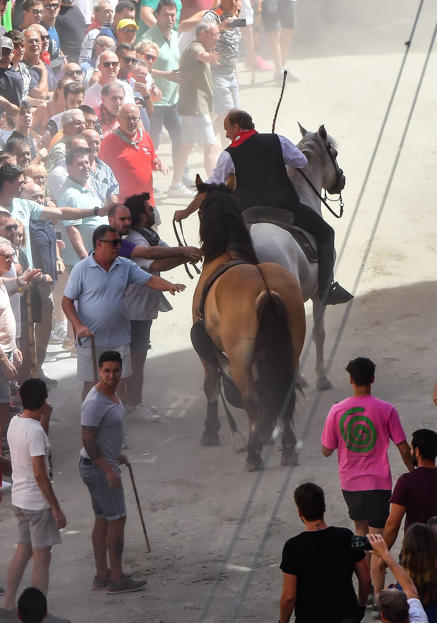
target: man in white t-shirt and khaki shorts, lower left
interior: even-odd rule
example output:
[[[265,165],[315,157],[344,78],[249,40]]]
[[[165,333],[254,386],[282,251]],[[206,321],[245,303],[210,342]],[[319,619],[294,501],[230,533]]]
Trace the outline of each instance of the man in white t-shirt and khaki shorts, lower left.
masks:
[[[18,522],[17,551],[7,569],[6,592],[0,620],[17,620],[16,595],[27,564],[33,557],[31,584],[47,596],[50,551],[61,542],[60,528],[67,520],[52,484],[49,469],[49,432],[52,407],[47,403],[42,379],[21,384],[23,412],[14,416],[7,430],[12,463],[12,508]],[[67,623],[50,615],[53,623]]]

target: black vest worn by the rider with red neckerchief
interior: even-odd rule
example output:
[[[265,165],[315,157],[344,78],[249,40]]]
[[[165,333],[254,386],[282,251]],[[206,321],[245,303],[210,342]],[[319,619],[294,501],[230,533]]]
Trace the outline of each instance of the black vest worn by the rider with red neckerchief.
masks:
[[[293,211],[299,196],[288,177],[277,134],[254,134],[226,151],[235,167],[234,196],[242,212],[255,206]]]

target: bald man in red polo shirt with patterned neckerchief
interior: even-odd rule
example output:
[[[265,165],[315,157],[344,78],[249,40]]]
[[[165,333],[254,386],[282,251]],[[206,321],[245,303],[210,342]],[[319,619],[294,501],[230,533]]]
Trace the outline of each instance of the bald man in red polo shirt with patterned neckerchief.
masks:
[[[117,120],[120,127],[101,141],[99,158],[113,170],[120,184],[121,201],[146,192],[154,206],[152,171],[167,175],[169,168],[156,156],[150,136],[138,127],[138,107],[121,106]]]

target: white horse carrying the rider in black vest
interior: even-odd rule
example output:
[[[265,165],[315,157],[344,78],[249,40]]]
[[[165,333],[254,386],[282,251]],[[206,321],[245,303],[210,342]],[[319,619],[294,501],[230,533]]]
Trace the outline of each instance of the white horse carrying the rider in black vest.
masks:
[[[345,177],[337,164],[335,141],[327,135],[322,125],[317,132],[304,130],[300,123],[299,129],[303,138],[298,147],[308,159],[308,164],[303,168],[304,173],[319,194],[322,188],[331,194],[339,193],[344,188]],[[306,179],[294,168],[288,169],[288,176],[301,202],[322,216],[321,201]],[[305,233],[316,248],[314,238]],[[322,306],[317,294],[317,262],[310,262],[293,236],[281,227],[270,223],[255,223],[250,227],[250,235],[260,262],[275,262],[288,269],[298,280],[304,301],[311,298],[314,320],[312,337],[316,344],[316,385],[317,389],[331,389],[331,379],[327,376],[324,362],[326,305]],[[303,374],[299,376],[299,384],[301,387],[308,386]]]

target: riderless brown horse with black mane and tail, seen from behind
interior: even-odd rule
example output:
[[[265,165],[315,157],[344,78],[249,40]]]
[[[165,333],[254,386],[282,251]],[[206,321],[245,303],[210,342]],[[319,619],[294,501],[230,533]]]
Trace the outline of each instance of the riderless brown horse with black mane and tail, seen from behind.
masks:
[[[246,469],[252,472],[263,467],[263,444],[270,440],[289,389],[296,385],[305,338],[303,298],[288,270],[278,264],[258,263],[232,198],[235,177],[231,175],[227,184],[218,186],[202,184],[197,176],[196,184],[203,197],[199,216],[204,265],[194,293],[193,321],[202,318],[199,325],[204,321],[205,340],[212,353],[209,356],[208,348],[198,348],[199,341],[193,339],[205,369],[208,403],[202,444],[219,442],[218,396],[223,368],[217,353],[225,353],[249,419]],[[208,283],[217,269],[235,260],[244,263],[230,267],[212,285]],[[203,300],[205,283],[210,287]],[[291,428],[295,402],[293,389],[283,413],[281,465],[297,462],[296,437]]]

